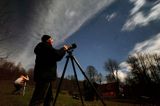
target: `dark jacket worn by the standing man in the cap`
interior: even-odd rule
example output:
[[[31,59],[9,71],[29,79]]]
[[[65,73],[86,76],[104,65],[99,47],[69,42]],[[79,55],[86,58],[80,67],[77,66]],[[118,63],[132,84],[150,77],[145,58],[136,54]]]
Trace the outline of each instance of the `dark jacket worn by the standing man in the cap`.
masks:
[[[36,54],[34,80],[51,81],[57,77],[57,61],[65,55],[64,48],[54,49],[52,45],[40,42],[34,49]]]

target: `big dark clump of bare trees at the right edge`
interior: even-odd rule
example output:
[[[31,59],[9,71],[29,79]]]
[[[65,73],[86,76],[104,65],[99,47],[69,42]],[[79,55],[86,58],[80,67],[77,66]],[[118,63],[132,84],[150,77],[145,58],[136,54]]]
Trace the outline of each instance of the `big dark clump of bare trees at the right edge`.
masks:
[[[126,62],[130,72],[125,81],[125,95],[160,98],[160,55],[137,53]]]

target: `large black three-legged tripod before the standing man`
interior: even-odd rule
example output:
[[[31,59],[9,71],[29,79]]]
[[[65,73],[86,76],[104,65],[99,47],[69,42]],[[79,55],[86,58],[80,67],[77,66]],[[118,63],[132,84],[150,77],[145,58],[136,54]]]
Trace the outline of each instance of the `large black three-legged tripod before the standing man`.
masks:
[[[77,73],[76,73],[76,68],[75,68],[74,62],[76,63],[76,65],[78,66],[78,68],[80,69],[80,71],[82,72],[82,74],[84,75],[84,77],[86,78],[86,80],[88,81],[88,83],[90,84],[90,86],[91,86],[91,87],[93,88],[93,90],[96,92],[96,94],[97,94],[98,97],[100,98],[102,104],[103,104],[104,106],[106,106],[106,104],[104,103],[103,99],[101,98],[101,96],[100,96],[99,93],[97,92],[96,88],[95,88],[95,87],[93,86],[93,84],[89,81],[89,79],[88,79],[87,76],[85,75],[85,72],[84,72],[83,69],[81,68],[80,64],[78,63],[78,61],[76,60],[76,58],[73,56],[72,52],[73,52],[73,50],[68,50],[68,51],[67,51],[67,53],[68,53],[68,55],[66,56],[67,60],[66,60],[65,66],[64,66],[64,70],[63,70],[63,73],[62,73],[60,82],[59,82],[59,84],[58,84],[57,92],[56,92],[56,95],[55,95],[55,98],[54,98],[54,101],[53,101],[53,106],[55,106],[55,104],[56,104],[56,100],[57,100],[58,94],[59,94],[59,92],[60,92],[60,87],[61,87],[61,84],[62,84],[62,80],[64,79],[64,74],[65,74],[65,72],[66,72],[66,68],[67,68],[69,59],[71,60],[71,63],[72,63],[72,67],[73,67],[73,71],[74,71],[74,76],[75,76],[76,83],[77,83],[77,86],[78,86],[78,90],[79,90],[79,93],[80,93],[80,99],[81,99],[81,102],[82,102],[82,106],[84,106],[84,102],[83,102],[83,98],[82,98],[82,92],[81,92],[81,90],[80,90],[80,85],[79,85],[79,83],[78,83],[78,77],[77,77]]]

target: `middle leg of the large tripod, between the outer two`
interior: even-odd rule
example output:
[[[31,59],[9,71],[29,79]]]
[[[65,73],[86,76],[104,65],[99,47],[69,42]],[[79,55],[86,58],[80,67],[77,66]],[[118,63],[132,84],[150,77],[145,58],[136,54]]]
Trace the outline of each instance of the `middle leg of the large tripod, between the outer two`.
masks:
[[[81,98],[81,102],[82,102],[82,106],[84,106],[84,102],[83,102],[83,98],[82,98],[82,92],[80,90],[80,85],[78,83],[78,77],[77,77],[77,73],[76,73],[76,69],[75,69],[75,65],[74,65],[74,62],[73,62],[73,58],[71,57],[71,62],[72,62],[72,67],[73,67],[73,71],[74,71],[74,76],[76,78],[76,83],[78,85],[78,90],[79,90],[79,93],[80,93],[80,98]]]

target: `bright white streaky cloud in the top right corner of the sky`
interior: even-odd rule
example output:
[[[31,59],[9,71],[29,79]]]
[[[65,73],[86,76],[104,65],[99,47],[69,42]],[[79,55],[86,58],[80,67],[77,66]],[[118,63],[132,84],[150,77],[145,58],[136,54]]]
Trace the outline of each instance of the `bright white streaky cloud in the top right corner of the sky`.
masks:
[[[130,1],[134,3],[134,7],[130,11],[129,19],[123,25],[122,31],[131,31],[136,27],[144,27],[152,21],[160,20],[160,2],[150,3],[146,0]],[[145,13],[145,7],[149,8],[147,13]]]

